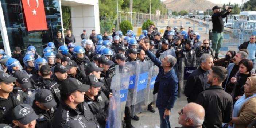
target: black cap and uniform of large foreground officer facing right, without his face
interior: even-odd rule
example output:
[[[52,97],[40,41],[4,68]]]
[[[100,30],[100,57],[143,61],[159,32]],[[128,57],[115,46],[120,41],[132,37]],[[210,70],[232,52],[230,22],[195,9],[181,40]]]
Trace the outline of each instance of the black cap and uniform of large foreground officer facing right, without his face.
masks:
[[[76,90],[86,92],[89,88],[89,85],[82,84],[75,78],[67,78],[62,82],[60,90],[62,93],[66,94],[75,92]],[[65,101],[61,100],[61,104],[59,105],[53,118],[54,123],[52,128],[62,128],[63,125],[65,125],[69,120],[79,120],[85,124],[89,121],[93,121],[96,124],[96,128],[100,128],[97,119],[90,111],[86,102],[81,102],[75,106],[75,109],[73,109],[66,104]]]

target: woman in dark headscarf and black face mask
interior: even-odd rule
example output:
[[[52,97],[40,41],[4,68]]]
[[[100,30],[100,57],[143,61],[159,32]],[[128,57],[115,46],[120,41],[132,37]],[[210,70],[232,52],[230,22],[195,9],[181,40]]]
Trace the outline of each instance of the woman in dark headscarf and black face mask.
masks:
[[[213,61],[215,66],[222,66],[227,68],[229,63],[233,63],[233,57],[236,55],[235,51],[228,51],[226,53],[225,58],[218,59],[216,61]]]

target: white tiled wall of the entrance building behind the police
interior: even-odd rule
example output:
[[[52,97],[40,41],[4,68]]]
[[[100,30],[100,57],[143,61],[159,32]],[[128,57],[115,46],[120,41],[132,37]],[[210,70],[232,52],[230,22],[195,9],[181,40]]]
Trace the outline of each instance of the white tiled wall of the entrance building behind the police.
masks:
[[[87,1],[87,0],[86,0]],[[93,0],[94,1],[94,0]],[[76,39],[76,44],[81,44],[82,31],[86,29],[89,38],[92,30],[100,33],[100,18],[98,0],[90,1],[90,4],[82,4],[81,6],[71,6],[71,23],[73,35]]]

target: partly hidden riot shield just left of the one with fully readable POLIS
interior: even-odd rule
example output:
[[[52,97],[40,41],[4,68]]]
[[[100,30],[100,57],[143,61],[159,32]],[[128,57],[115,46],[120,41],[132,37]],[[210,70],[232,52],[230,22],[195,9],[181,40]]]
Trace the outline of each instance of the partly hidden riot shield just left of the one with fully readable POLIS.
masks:
[[[123,66],[116,66],[116,74],[127,72],[130,73],[126,106],[131,106],[135,104],[136,99],[134,98],[134,94],[136,92],[135,88],[137,88],[136,76],[138,76],[139,73],[138,68],[138,61],[126,62]]]

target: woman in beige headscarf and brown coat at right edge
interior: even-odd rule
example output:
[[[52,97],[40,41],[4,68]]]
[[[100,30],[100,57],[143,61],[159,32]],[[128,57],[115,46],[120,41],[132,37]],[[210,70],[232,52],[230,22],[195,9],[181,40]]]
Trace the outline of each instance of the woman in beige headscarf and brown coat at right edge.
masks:
[[[234,104],[228,128],[246,128],[256,117],[256,75],[247,78],[244,94]]]

